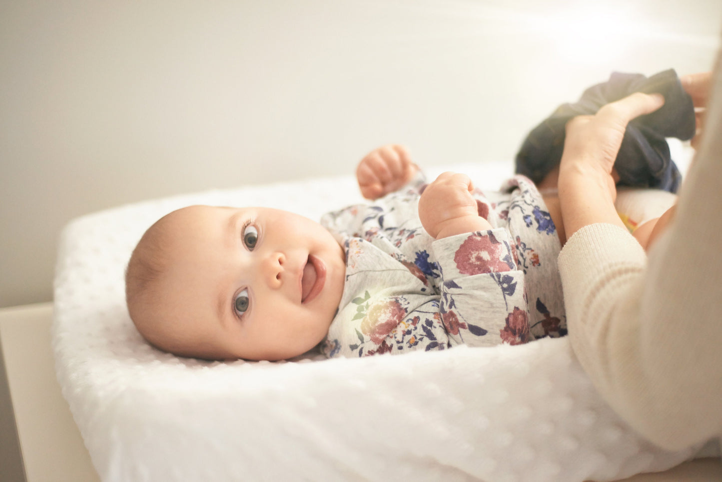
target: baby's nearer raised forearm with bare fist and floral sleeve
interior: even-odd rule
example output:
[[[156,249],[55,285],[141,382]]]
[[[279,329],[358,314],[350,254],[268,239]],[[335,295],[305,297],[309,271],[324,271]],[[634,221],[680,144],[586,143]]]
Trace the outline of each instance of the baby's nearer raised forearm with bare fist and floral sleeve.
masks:
[[[421,223],[436,239],[443,324],[451,345],[526,343],[524,272],[514,262],[508,232],[479,216],[473,190],[468,176],[447,172],[419,199]]]

